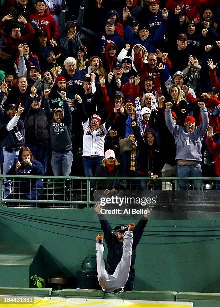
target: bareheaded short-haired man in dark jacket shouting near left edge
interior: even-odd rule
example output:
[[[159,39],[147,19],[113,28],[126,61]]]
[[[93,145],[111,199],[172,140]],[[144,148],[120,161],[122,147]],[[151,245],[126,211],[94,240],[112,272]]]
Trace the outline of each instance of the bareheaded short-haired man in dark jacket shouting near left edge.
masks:
[[[18,78],[18,86],[12,86],[12,89],[4,103],[4,108],[7,109],[8,105],[11,103],[15,104],[17,107],[20,103],[22,106],[25,106],[25,103],[28,100],[30,93],[31,90],[27,83],[26,77],[20,76]]]

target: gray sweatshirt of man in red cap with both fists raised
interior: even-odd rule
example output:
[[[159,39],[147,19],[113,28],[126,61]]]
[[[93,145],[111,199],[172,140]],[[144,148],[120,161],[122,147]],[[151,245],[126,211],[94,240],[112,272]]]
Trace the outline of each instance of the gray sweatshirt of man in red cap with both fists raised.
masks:
[[[201,118],[202,122],[200,125],[195,127],[193,132],[188,132],[184,127],[178,126],[173,122],[171,109],[166,109],[166,125],[173,134],[176,143],[175,159],[202,161],[202,140],[209,125],[208,112],[205,107],[201,108]]]

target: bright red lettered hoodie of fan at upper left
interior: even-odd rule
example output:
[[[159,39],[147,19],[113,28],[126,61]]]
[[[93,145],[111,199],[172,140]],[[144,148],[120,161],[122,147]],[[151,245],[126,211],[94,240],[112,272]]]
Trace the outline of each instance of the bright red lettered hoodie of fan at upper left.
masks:
[[[29,20],[35,20],[39,26],[39,30],[45,32],[50,41],[52,38],[57,40],[59,37],[59,28],[56,24],[55,19],[46,9],[43,15],[40,15],[37,11],[30,15]]]

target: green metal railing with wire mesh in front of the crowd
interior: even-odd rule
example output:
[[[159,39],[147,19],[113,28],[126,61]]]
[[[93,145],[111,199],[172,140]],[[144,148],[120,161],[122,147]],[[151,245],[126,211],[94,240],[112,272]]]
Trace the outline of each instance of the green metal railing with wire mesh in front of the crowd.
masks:
[[[6,182],[4,183],[4,181]],[[178,183],[184,181],[186,190],[178,190]],[[194,182],[200,182],[204,190],[196,190]],[[116,189],[120,193],[159,195],[158,203],[184,203],[193,205],[202,195],[205,205],[220,206],[215,177],[158,177],[155,181],[149,177],[63,177],[33,175],[0,175],[0,206],[42,207],[42,208],[90,208],[99,200],[97,191]],[[4,186],[5,185],[5,186]],[[8,186],[12,187],[9,197],[5,197]],[[178,191],[175,191],[178,190]],[[201,192],[202,191],[202,192]],[[135,193],[134,193],[135,194]],[[219,193],[220,194],[220,193]],[[174,195],[174,196],[173,196]],[[173,201],[174,199],[174,201]],[[165,206],[164,205],[164,206]],[[163,207],[164,207],[163,206]]]

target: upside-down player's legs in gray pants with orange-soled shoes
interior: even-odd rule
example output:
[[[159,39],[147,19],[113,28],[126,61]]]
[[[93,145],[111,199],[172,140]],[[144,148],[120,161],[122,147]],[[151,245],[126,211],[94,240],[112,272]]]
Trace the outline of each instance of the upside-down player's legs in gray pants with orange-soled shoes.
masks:
[[[98,281],[104,292],[119,292],[123,291],[123,288],[127,282],[130,271],[131,255],[132,255],[132,245],[133,245],[133,232],[136,225],[131,223],[126,228],[123,240],[123,256],[118,263],[113,275],[108,274],[105,270],[105,263],[103,258],[104,245],[103,245],[103,235],[99,234],[96,237],[96,259],[97,259],[97,272]]]

